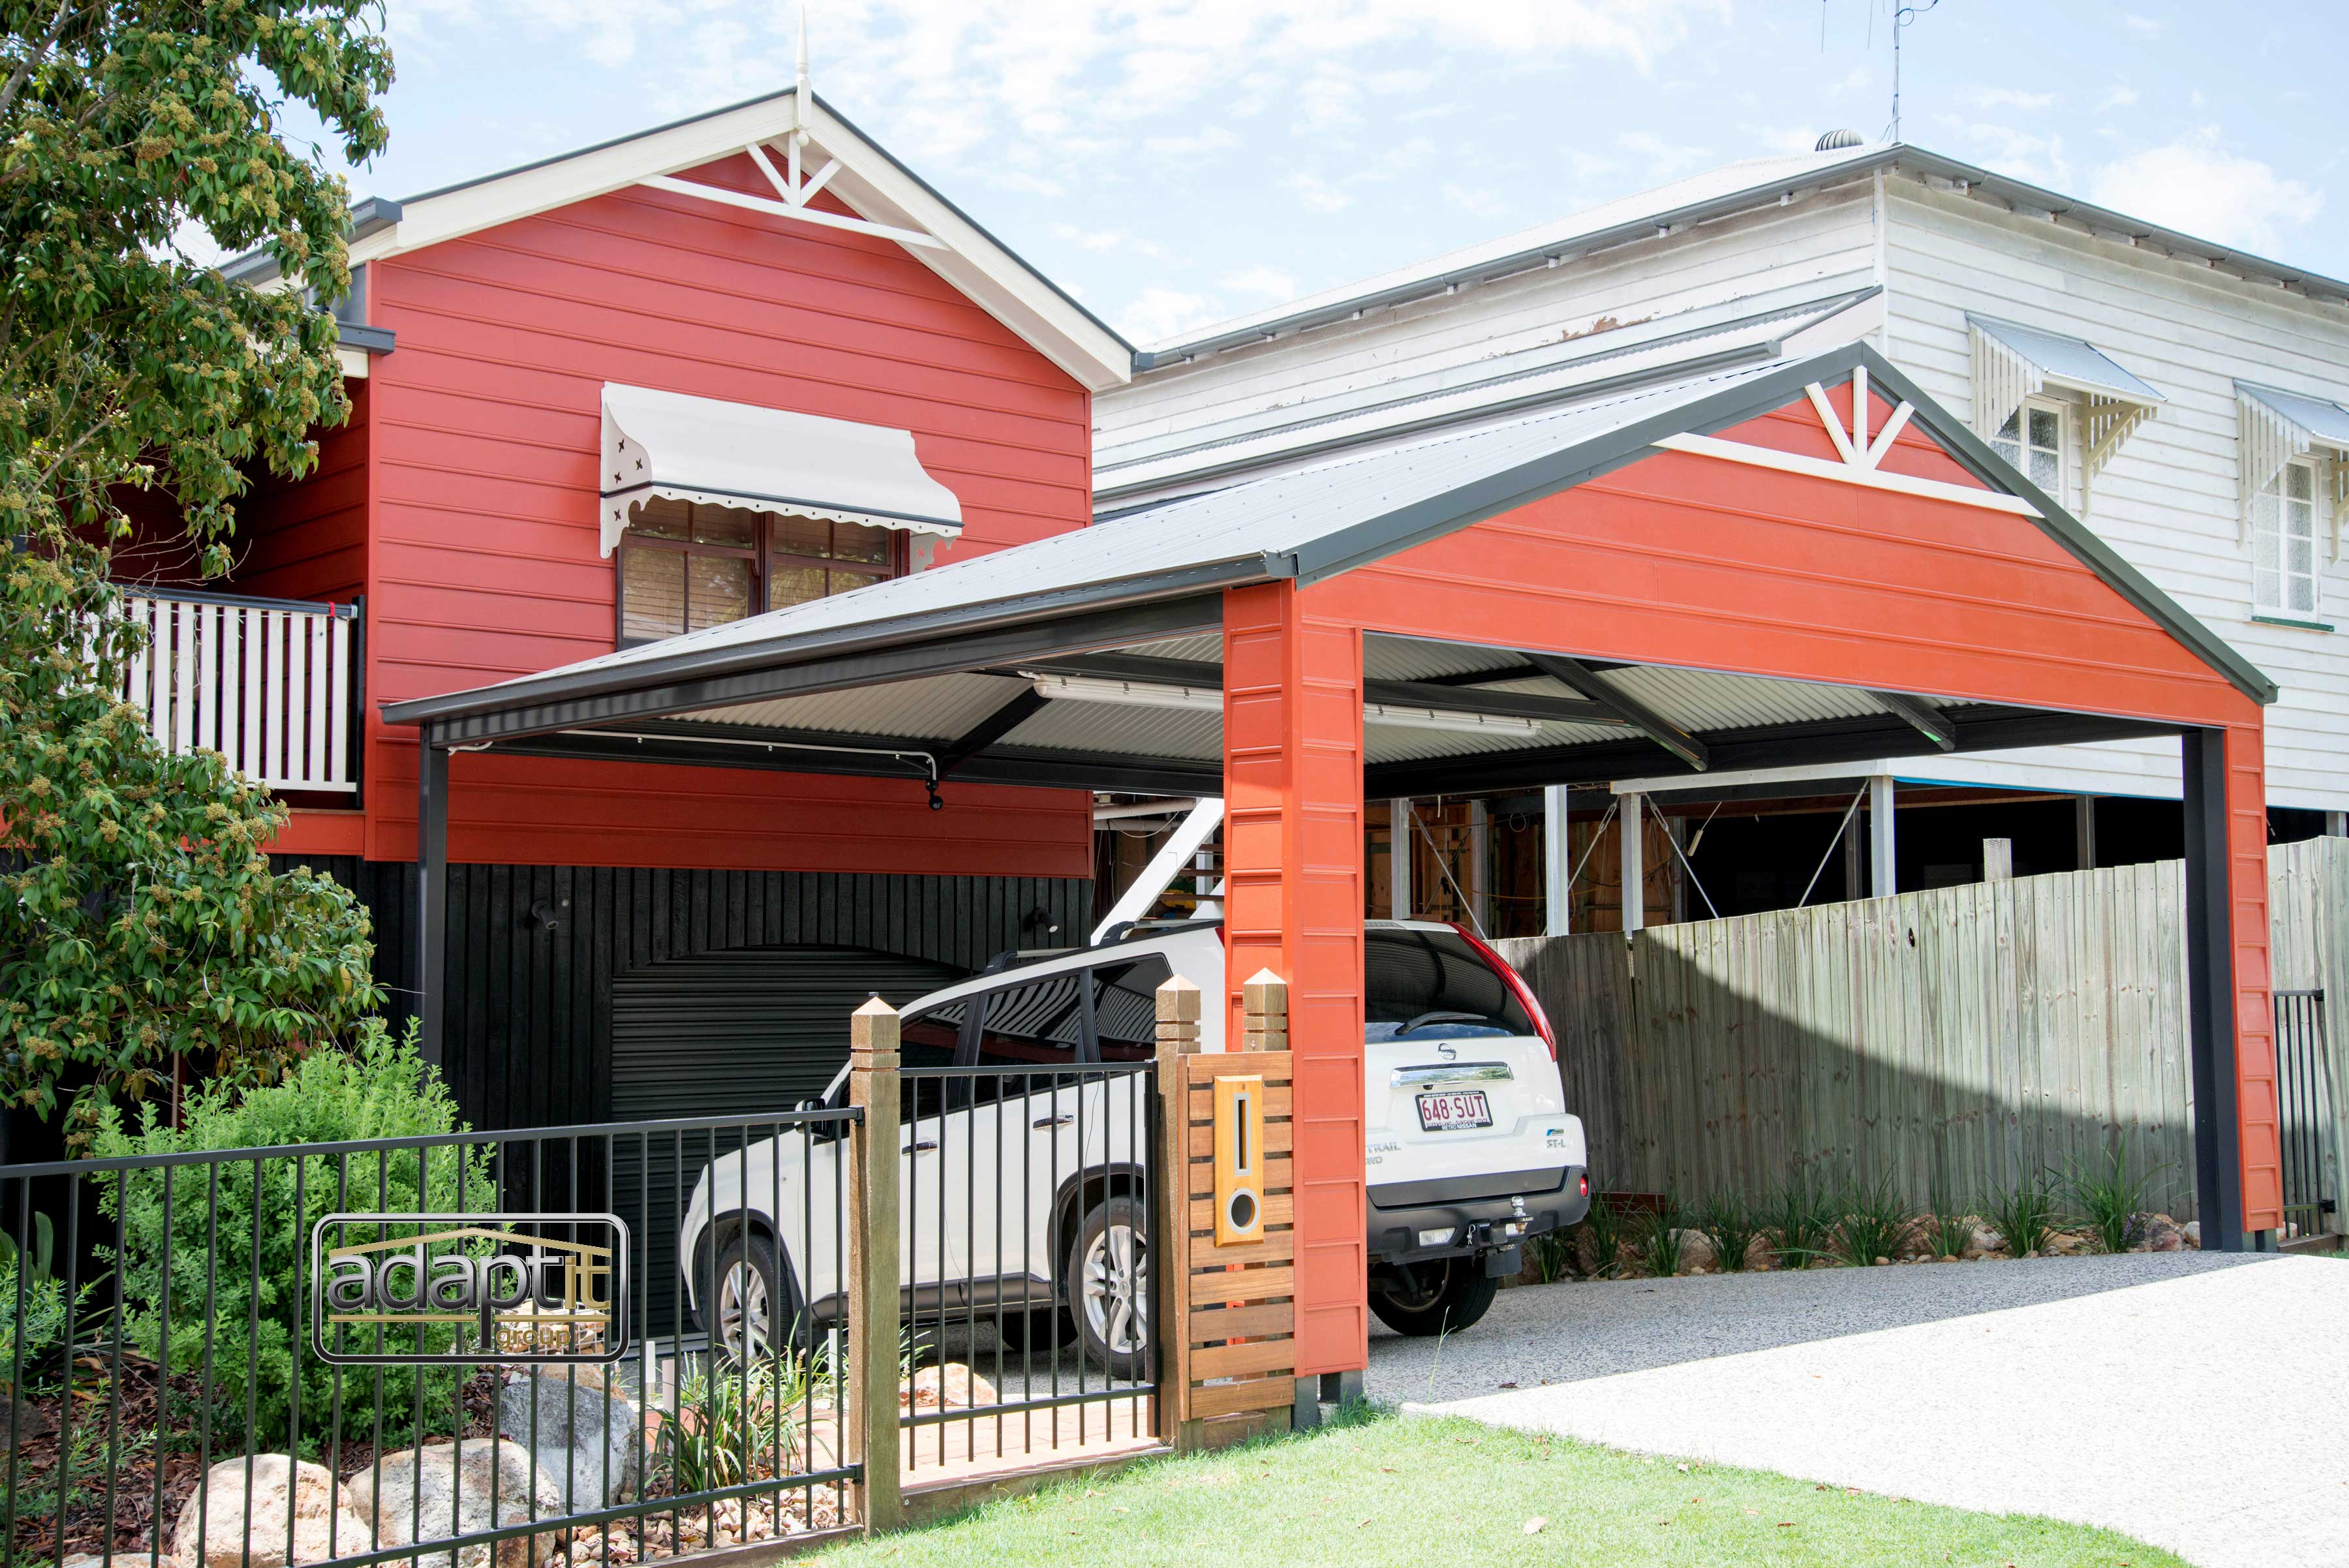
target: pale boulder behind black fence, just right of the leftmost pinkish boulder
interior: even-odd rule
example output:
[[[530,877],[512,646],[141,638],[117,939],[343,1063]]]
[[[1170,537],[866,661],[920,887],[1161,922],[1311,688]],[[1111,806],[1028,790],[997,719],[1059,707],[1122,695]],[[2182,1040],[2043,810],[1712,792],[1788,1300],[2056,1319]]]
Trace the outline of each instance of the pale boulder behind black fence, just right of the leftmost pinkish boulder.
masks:
[[[385,1547],[526,1523],[533,1519],[533,1502],[536,1519],[561,1519],[564,1514],[561,1483],[538,1467],[529,1448],[510,1441],[491,1444],[479,1437],[463,1444],[463,1455],[458,1444],[425,1444],[420,1451],[385,1453],[343,1486],[352,1512],[362,1521],[373,1521]],[[496,1516],[491,1516],[491,1495],[496,1495]],[[416,1521],[420,1521],[420,1530],[411,1533]],[[456,1552],[395,1559],[385,1568],[531,1568],[545,1563],[566,1537],[568,1530],[514,1535],[493,1547],[479,1542]]]

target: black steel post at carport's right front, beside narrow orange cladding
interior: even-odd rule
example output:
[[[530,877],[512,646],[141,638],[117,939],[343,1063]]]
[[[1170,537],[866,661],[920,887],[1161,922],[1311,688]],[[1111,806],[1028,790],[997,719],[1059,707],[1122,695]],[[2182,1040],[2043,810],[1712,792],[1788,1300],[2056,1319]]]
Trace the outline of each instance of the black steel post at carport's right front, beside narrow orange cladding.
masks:
[[[2187,850],[2187,1045],[2194,1207],[2203,1251],[2243,1251],[2243,1120],[2234,1056],[2234,899],[2227,887],[2227,732],[2178,737]]]

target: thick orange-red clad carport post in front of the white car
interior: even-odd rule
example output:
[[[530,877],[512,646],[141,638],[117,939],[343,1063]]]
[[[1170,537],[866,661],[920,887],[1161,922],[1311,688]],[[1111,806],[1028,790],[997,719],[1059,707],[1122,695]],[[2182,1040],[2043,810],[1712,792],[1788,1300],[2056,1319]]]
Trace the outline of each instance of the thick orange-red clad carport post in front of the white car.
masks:
[[[1292,582],[1224,596],[1226,1026],[1290,979],[1297,1373],[1369,1359],[1362,1209],[1362,634]]]

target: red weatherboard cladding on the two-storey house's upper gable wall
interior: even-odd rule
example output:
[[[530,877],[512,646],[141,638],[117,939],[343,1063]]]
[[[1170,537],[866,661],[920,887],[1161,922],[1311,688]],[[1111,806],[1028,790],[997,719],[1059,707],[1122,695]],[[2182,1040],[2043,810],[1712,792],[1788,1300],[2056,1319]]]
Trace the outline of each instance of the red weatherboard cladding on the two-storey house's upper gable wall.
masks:
[[[768,192],[749,160],[691,178]],[[606,380],[897,425],[984,552],[1092,509],[1090,399],[888,239],[632,188],[369,268],[366,852],[416,852],[416,746],[376,702],[611,653]],[[1088,798],[460,756],[449,852],[571,866],[1088,876]]]

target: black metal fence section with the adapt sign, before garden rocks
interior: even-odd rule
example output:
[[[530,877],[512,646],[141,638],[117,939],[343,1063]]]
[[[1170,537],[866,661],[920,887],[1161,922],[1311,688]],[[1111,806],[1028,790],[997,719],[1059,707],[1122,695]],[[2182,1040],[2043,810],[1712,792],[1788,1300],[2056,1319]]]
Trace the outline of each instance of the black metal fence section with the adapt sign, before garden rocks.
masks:
[[[843,1523],[820,1291],[857,1120],[0,1167],[0,1568],[583,1568]]]

